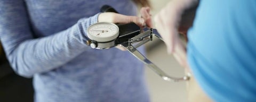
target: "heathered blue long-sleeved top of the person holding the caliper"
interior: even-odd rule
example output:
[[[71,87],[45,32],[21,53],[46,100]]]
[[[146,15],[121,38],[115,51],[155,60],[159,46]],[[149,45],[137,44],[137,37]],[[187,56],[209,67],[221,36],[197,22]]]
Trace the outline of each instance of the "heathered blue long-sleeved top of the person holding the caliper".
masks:
[[[149,101],[139,60],[85,43],[106,4],[137,12],[131,0],[0,1],[0,39],[13,70],[33,77],[35,101]]]

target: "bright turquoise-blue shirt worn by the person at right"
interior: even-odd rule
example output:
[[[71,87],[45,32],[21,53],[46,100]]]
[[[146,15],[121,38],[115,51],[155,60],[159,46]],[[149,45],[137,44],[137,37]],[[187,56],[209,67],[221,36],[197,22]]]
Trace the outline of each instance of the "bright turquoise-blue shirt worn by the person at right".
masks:
[[[256,101],[256,1],[202,0],[188,61],[215,101]]]

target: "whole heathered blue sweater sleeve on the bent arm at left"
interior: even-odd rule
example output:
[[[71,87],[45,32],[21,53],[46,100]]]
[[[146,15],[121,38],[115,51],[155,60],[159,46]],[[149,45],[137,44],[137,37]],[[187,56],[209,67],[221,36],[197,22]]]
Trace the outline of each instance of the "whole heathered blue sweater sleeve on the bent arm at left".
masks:
[[[34,38],[24,1],[0,1],[0,39],[13,70],[32,77],[69,62],[89,48],[86,29],[98,22],[98,15],[51,36]]]

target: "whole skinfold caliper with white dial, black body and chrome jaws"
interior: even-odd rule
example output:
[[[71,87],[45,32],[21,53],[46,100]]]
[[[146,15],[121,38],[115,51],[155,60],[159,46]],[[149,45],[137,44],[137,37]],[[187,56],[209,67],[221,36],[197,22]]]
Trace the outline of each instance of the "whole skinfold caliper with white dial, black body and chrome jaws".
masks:
[[[110,6],[103,6],[102,8],[107,12],[116,12]],[[159,69],[158,66],[149,61],[147,57],[143,56],[139,50],[137,50],[141,45],[153,40],[153,36],[155,36],[154,38],[163,40],[157,33],[156,29],[141,29],[135,23],[114,24],[109,22],[98,22],[90,25],[87,29],[87,37],[89,40],[86,41],[86,44],[91,46],[91,48],[97,49],[108,49],[115,46],[123,46],[133,56],[137,57],[164,80],[175,82],[189,80],[189,76],[175,78],[167,75],[164,71]]]

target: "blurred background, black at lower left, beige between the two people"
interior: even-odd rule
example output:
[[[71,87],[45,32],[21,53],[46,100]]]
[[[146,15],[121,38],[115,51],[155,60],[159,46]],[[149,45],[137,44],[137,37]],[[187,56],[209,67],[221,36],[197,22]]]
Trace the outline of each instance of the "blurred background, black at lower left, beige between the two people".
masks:
[[[170,0],[150,0],[154,16]],[[167,74],[174,77],[182,77],[183,68],[174,60],[173,56],[167,55],[166,47],[160,40],[151,41],[146,45],[147,57]],[[0,53],[2,52],[0,46]],[[2,56],[2,55],[1,55]],[[0,58],[0,101],[33,101],[33,88],[31,79],[25,79],[16,75],[6,62],[4,57]],[[156,73],[146,67],[146,80],[153,102],[187,101],[186,83],[164,81]],[[12,98],[12,96],[18,96]]]

